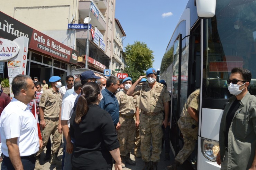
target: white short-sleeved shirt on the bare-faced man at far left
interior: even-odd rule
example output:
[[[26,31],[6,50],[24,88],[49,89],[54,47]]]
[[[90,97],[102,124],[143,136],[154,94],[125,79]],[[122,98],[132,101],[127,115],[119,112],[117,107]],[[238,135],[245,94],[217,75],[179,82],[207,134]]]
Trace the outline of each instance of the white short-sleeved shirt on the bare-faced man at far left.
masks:
[[[13,98],[4,108],[0,118],[2,152],[9,157],[6,139],[18,138],[20,156],[25,157],[39,150],[37,121],[29,105]]]

